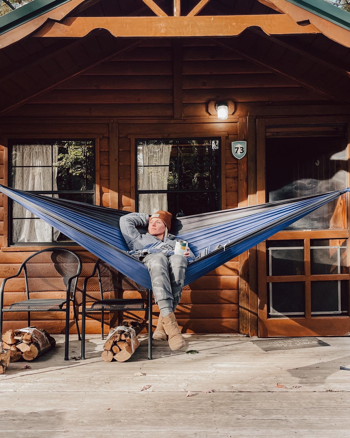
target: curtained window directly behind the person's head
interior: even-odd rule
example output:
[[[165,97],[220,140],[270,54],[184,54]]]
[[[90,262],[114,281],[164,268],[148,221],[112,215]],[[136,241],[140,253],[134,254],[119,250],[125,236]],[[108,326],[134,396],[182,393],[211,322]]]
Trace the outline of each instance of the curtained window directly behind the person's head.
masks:
[[[220,210],[219,139],[138,140],[136,148],[139,212],[176,217]]]

